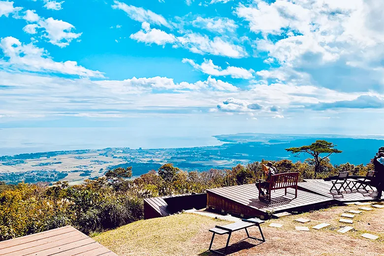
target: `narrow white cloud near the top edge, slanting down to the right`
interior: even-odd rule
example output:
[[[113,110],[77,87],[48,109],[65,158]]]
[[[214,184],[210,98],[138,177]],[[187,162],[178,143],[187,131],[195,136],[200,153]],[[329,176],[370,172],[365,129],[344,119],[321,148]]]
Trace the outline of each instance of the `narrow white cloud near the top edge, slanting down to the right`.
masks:
[[[141,7],[136,7],[133,5],[128,5],[124,2],[114,1],[114,5],[112,5],[113,9],[120,9],[125,11],[128,16],[135,21],[138,22],[148,22],[156,25],[163,25],[165,27],[170,27],[168,22],[164,19],[163,16],[152,12],[151,10],[146,10]]]

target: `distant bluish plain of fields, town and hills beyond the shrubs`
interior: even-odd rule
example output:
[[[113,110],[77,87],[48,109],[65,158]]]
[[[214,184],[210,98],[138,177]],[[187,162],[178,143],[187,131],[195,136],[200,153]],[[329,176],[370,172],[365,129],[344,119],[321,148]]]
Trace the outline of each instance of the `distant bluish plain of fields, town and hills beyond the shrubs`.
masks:
[[[100,150],[56,151],[0,157],[0,181],[8,184],[68,181],[80,184],[86,179],[104,175],[108,169],[132,166],[134,177],[158,170],[167,162],[182,170],[231,168],[238,163],[290,159],[304,161],[308,156],[295,157],[285,148],[304,145],[325,138],[338,145],[343,154],[332,156],[332,164],[350,162],[366,164],[375,151],[384,146],[381,137],[338,135],[229,134],[215,136],[224,144],[211,147],[175,149],[106,148]]]

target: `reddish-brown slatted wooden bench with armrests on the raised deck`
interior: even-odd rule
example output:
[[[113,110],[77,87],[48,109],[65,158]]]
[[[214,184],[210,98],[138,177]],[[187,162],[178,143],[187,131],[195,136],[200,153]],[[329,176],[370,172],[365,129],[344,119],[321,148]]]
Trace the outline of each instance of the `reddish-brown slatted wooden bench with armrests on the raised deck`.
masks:
[[[279,173],[275,175],[270,175],[269,180],[259,180],[258,182],[258,198],[259,199],[268,199],[271,201],[271,191],[285,189],[285,194],[287,195],[287,189],[293,188],[295,189],[295,197],[297,197],[297,183],[299,181],[299,173],[298,172],[286,172]],[[262,186],[262,184],[266,184],[266,186]],[[257,184],[256,184],[257,186]],[[262,195],[261,189],[265,189],[268,192],[267,198]]]

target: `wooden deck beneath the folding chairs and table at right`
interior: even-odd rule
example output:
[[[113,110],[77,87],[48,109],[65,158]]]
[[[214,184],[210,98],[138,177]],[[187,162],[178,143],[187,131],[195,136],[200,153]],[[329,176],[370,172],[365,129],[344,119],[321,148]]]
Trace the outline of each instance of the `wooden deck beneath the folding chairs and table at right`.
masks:
[[[317,193],[328,198],[335,199],[339,202],[354,202],[354,201],[372,201],[374,196],[377,195],[375,188],[374,191],[365,192],[364,190],[353,191],[353,192],[342,192],[338,194],[337,192],[329,192],[332,187],[331,181],[324,180],[304,180],[305,182],[300,182],[298,187],[301,190],[307,192]],[[339,186],[339,185],[338,185]],[[384,196],[382,196],[384,199]]]

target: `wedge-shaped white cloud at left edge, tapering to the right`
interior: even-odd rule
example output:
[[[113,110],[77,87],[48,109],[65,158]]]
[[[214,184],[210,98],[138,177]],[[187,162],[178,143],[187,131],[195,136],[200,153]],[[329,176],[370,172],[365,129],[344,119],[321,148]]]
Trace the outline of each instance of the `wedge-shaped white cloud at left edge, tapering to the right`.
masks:
[[[18,70],[35,72],[61,73],[78,75],[84,77],[103,77],[99,71],[89,70],[79,66],[76,62],[55,62],[45,52],[31,44],[22,44],[17,38],[5,37],[0,40],[0,49],[7,61],[0,62],[0,65]]]

